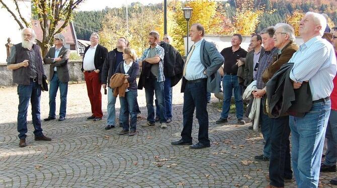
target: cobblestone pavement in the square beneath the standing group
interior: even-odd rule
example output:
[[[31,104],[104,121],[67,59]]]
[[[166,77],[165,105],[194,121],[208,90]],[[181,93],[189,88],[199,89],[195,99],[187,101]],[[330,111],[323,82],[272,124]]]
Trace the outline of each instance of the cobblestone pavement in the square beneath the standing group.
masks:
[[[208,106],[211,147],[190,150],[172,146],[182,130],[183,95],[174,88],[173,122],[167,129],[158,125],[142,128],[146,118],[138,118],[134,137],[118,136],[121,128],[104,130],[106,119],[88,121],[91,115],[86,86],[70,84],[67,117],[63,122],[42,122],[51,142],[34,141],[29,121],[28,146],[18,147],[16,87],[0,88],[0,187],[264,187],[268,181],[268,161],[252,158],[261,154],[263,138],[246,125],[230,122],[217,125],[220,111],[212,96]],[[144,91],[138,102],[146,116]],[[107,96],[103,95],[106,114]],[[57,101],[59,105],[59,100]],[[57,107],[58,108],[58,107]],[[116,103],[117,114],[119,101]],[[41,97],[41,119],[48,117],[48,93]],[[58,112],[58,110],[57,110]],[[118,117],[118,115],[117,115]],[[104,116],[106,118],[106,116]],[[31,120],[30,111],[28,120]],[[197,142],[198,125],[193,137]],[[321,173],[322,187],[335,173]],[[296,187],[295,182],[286,187]]]

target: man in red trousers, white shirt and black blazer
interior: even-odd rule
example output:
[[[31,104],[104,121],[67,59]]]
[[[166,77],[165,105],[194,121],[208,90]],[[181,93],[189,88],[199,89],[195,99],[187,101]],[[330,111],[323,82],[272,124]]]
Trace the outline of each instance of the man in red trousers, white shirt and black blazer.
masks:
[[[100,121],[103,117],[102,112],[102,93],[101,78],[102,67],[107,56],[108,49],[99,43],[98,33],[92,33],[90,36],[91,45],[85,49],[82,62],[82,71],[85,75],[88,96],[91,104],[92,115],[88,120]]]

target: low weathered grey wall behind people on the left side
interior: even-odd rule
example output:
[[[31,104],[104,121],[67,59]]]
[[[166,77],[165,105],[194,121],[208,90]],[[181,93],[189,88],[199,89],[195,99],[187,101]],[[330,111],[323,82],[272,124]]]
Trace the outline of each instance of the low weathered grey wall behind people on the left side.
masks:
[[[49,64],[43,64],[44,72],[49,79]],[[68,69],[69,69],[69,76],[70,81],[84,81],[84,74],[81,71],[82,67],[82,60],[77,61],[69,61],[68,62]],[[12,70],[7,69],[6,64],[0,64],[0,87],[9,87],[15,86],[16,84],[13,83],[13,74]]]

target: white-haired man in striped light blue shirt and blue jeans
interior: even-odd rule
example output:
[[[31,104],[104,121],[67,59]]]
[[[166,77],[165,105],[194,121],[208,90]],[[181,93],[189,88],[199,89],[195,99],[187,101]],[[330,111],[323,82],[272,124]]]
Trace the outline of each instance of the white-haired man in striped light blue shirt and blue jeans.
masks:
[[[326,27],[325,18],[308,12],[300,21],[299,34],[304,44],[289,62],[293,87],[309,81],[312,107],[304,117],[289,116],[292,133],[292,162],[299,188],[317,187],[324,135],[330,114],[332,79],[336,74],[336,57],[332,45],[321,38]]]

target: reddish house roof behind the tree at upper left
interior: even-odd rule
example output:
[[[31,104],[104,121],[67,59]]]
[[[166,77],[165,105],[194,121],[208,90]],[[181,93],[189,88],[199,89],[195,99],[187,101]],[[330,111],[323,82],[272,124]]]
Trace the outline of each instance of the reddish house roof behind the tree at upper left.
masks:
[[[60,28],[63,25],[64,21],[60,21],[58,26],[56,26],[56,28]],[[65,42],[67,44],[76,44],[75,42],[75,35],[74,35],[74,31],[72,30],[72,26],[71,26],[71,22],[69,22],[69,24],[63,29],[63,31],[61,32],[61,34],[64,36],[65,38]],[[38,20],[33,20],[32,21],[32,27],[36,33],[36,38],[40,41],[42,41],[42,36],[43,36],[43,32],[40,26],[40,22]]]

